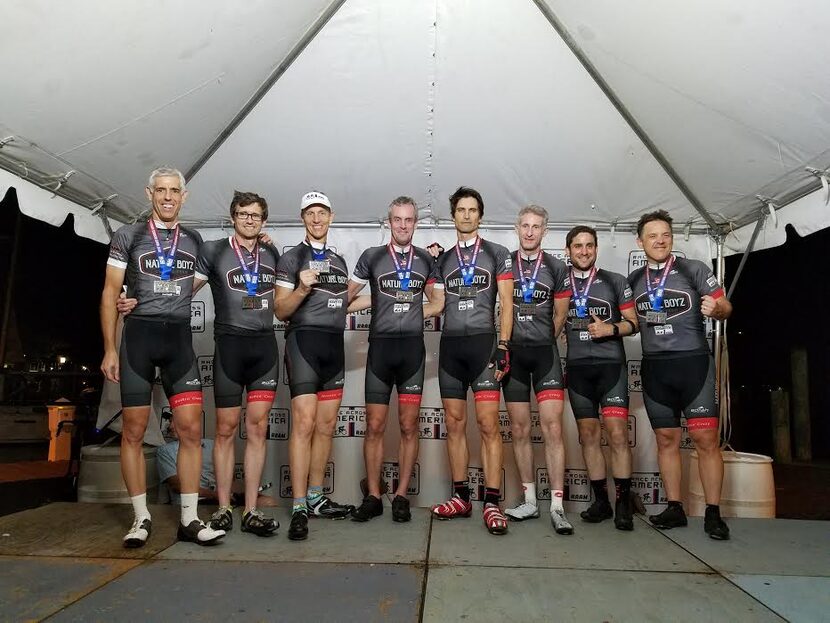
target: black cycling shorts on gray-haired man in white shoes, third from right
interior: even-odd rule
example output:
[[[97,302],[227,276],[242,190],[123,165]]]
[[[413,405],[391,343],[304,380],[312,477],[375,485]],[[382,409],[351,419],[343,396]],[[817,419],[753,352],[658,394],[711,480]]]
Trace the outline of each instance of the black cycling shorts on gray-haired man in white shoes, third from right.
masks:
[[[515,345],[510,349],[510,373],[502,382],[505,402],[530,402],[530,388],[536,402],[564,400],[562,363],[556,344]]]

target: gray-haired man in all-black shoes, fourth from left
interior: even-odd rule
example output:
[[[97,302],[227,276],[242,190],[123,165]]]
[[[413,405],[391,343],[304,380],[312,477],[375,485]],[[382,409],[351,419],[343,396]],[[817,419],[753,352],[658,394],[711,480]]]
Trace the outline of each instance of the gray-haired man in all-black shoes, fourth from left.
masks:
[[[392,500],[392,519],[411,519],[407,486],[418,458],[418,411],[424,386],[424,318],[441,313],[433,291],[434,261],[423,249],[412,245],[418,223],[418,208],[411,197],[398,197],[389,206],[392,240],[364,251],[349,281],[349,298],[367,283],[371,296],[360,296],[349,306],[359,311],[371,306],[369,354],[366,361],[366,462],[367,493],[352,512],[353,521],[368,521],[383,514],[380,471],[383,435],[392,388],[398,390],[401,441],[398,448],[398,488]],[[430,301],[424,306],[424,294]],[[435,301],[435,302],[433,302]]]

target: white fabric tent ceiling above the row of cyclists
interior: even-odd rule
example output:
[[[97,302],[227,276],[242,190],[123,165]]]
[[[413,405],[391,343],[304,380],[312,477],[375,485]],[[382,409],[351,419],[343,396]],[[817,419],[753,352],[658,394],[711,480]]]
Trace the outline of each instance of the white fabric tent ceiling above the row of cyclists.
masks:
[[[160,164],[193,173],[185,216],[202,225],[225,217],[235,188],[266,196],[272,221],[295,220],[316,188],[339,222],[363,223],[399,194],[447,218],[466,184],[490,223],[536,202],[562,224],[665,208],[740,227],[766,211],[757,195],[785,205],[820,186],[805,167],[830,167],[819,0],[16,0],[3,12],[0,142],[14,140],[0,166],[50,188],[77,171],[60,191],[87,207],[117,194],[104,207],[115,221],[146,209]],[[815,208],[782,218],[830,225],[820,193],[805,201]]]

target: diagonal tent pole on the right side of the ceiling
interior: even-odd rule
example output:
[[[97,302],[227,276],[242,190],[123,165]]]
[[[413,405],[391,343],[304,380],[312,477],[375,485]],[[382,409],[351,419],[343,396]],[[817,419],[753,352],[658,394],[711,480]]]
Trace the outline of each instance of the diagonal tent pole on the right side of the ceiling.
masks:
[[[625,104],[622,103],[617,94],[614,92],[614,89],[611,88],[605,78],[602,77],[602,74],[599,73],[599,70],[596,66],[591,62],[591,59],[588,58],[588,55],[582,50],[576,40],[571,36],[571,33],[565,28],[565,25],[559,20],[556,14],[551,10],[550,6],[548,6],[545,0],[533,0],[533,3],[537,6],[537,8],[542,12],[542,15],[545,16],[545,19],[548,20],[550,25],[553,29],[559,34],[562,38],[562,41],[565,45],[570,48],[571,52],[576,59],[582,64],[582,67],[585,68],[585,71],[588,72],[588,75],[594,80],[596,85],[600,88],[600,90],[605,94],[605,97],[611,102],[614,108],[617,109],[617,112],[620,113],[620,116],[625,120],[625,122],[629,125],[629,127],[634,131],[634,134],[643,142],[643,145],[646,146],[646,149],[649,150],[651,155],[657,160],[658,164],[663,168],[666,174],[671,178],[671,180],[675,183],[675,185],[680,189],[680,192],[683,193],[683,196],[686,197],[688,202],[692,204],[692,207],[697,210],[698,214],[703,217],[703,220],[709,225],[713,232],[718,232],[721,230],[721,227],[712,218],[712,215],[709,214],[708,210],[703,207],[703,202],[698,199],[697,195],[694,194],[691,188],[686,184],[680,174],[674,169],[672,164],[668,161],[663,152],[657,147],[654,141],[651,140],[651,137],[646,133],[643,127],[637,122],[634,118],[634,115],[625,107]]]

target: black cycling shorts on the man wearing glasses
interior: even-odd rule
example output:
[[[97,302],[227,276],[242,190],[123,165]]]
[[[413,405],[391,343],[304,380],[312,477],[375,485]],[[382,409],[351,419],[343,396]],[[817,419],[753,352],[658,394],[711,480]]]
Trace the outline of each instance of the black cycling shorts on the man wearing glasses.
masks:
[[[277,339],[262,335],[217,335],[213,357],[213,396],[218,409],[247,402],[274,402],[279,382]]]

